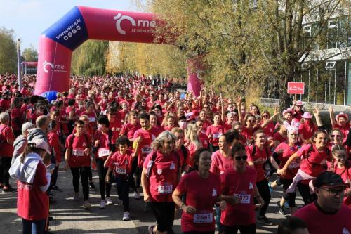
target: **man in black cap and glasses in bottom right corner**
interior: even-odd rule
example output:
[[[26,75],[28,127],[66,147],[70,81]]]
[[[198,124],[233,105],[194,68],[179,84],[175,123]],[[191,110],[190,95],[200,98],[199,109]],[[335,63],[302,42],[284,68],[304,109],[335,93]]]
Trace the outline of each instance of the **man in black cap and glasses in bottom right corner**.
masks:
[[[351,233],[351,209],[343,204],[345,183],[331,171],[314,181],[317,200],[299,209],[294,216],[307,224],[310,234]]]

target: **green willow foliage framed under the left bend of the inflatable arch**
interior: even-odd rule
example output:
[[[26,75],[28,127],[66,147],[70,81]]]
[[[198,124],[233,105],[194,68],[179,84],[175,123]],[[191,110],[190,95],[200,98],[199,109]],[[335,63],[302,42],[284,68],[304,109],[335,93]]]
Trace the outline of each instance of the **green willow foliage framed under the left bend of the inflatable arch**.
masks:
[[[86,41],[79,46],[72,57],[72,74],[102,75],[106,70],[108,41]]]

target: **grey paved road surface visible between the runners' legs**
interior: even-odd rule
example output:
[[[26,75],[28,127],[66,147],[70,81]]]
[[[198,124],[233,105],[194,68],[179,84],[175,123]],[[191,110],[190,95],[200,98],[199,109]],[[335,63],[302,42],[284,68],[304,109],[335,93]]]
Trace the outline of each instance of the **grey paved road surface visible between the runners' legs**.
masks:
[[[80,202],[74,202],[72,199],[72,176],[69,171],[59,171],[58,186],[63,189],[61,193],[56,192],[55,198],[58,201],[51,205],[51,231],[53,233],[147,233],[147,226],[154,222],[154,216],[151,213],[143,212],[144,202],[135,200],[133,194],[131,197],[131,221],[121,221],[123,216],[123,207],[116,195],[116,188],[112,188],[113,205],[106,209],[99,209],[100,193],[98,191],[98,174],[93,172],[95,186],[97,189],[91,191],[90,201],[92,204],[90,211],[85,211],[82,207],[83,198],[81,195]],[[13,181],[15,187],[15,181]],[[81,188],[79,188],[81,190]],[[258,224],[257,233],[276,233],[277,224],[284,219],[284,216],[277,213],[275,203],[278,197],[282,195],[280,190],[272,193],[272,200],[267,212],[267,217],[272,219],[274,226],[260,226]],[[16,197],[17,193],[0,193],[0,233],[21,233],[22,223],[16,215]],[[298,204],[302,200],[298,196]],[[180,213],[180,212],[179,212]],[[180,214],[176,217],[173,230],[180,233]]]

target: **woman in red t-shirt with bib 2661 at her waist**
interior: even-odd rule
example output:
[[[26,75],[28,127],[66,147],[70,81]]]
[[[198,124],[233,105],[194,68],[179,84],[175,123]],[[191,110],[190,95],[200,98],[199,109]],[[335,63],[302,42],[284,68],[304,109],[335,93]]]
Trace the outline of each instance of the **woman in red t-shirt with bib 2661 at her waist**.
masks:
[[[220,177],[212,174],[211,152],[201,149],[194,157],[196,171],[183,176],[174,190],[172,198],[183,209],[181,226],[183,233],[215,233],[213,206],[225,209],[225,202],[220,202]],[[186,194],[185,202],[182,195]]]

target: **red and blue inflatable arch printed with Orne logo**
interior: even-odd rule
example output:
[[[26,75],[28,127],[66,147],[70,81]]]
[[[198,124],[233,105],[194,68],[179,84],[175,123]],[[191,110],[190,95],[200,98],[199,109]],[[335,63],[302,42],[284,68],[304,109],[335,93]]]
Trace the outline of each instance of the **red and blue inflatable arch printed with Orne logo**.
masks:
[[[53,100],[69,89],[72,51],[88,39],[155,43],[155,16],[75,6],[41,34],[34,94]],[[199,71],[192,70],[188,69],[188,91],[198,96]]]

